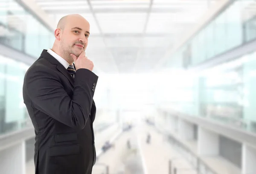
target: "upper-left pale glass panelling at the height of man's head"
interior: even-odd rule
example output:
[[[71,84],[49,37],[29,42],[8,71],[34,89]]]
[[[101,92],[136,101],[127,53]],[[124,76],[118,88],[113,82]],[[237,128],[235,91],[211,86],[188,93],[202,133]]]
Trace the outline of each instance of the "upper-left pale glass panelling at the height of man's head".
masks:
[[[0,44],[38,58],[43,49],[52,46],[54,39],[54,32],[19,1],[0,1]]]

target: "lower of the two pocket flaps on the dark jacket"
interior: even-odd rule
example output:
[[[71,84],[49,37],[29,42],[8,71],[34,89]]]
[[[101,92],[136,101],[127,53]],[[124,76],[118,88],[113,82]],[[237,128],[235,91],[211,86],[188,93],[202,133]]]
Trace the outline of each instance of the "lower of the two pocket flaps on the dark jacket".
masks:
[[[50,157],[76,155],[80,153],[79,145],[52,146],[48,149]]]

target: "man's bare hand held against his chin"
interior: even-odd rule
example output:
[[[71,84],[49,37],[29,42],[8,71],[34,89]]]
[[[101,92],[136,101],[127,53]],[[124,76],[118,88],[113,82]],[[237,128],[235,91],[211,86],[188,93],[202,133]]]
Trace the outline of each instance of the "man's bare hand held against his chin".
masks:
[[[76,57],[76,55],[70,54],[70,56],[73,58],[74,63],[76,65],[76,70],[80,69],[80,68],[85,68],[88,69],[90,71],[93,71],[93,62],[90,61],[86,56],[85,56],[85,52],[82,51],[81,54]]]

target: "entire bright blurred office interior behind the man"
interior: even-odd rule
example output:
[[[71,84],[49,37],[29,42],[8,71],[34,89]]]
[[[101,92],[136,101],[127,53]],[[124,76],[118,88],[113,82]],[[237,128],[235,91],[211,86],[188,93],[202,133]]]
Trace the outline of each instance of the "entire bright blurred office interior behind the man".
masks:
[[[256,174],[256,0],[0,0],[0,174],[33,174],[23,78],[90,23],[93,174]]]

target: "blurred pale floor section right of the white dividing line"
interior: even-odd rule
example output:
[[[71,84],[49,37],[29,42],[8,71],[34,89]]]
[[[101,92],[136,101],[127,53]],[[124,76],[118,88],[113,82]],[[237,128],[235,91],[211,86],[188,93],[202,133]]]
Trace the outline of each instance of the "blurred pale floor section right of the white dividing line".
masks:
[[[144,174],[169,174],[169,159],[176,167],[178,174],[196,174],[195,169],[166,141],[161,133],[154,127],[143,124],[138,127],[139,143],[141,144],[143,161],[145,161]],[[146,143],[146,136],[150,133],[151,142]]]

